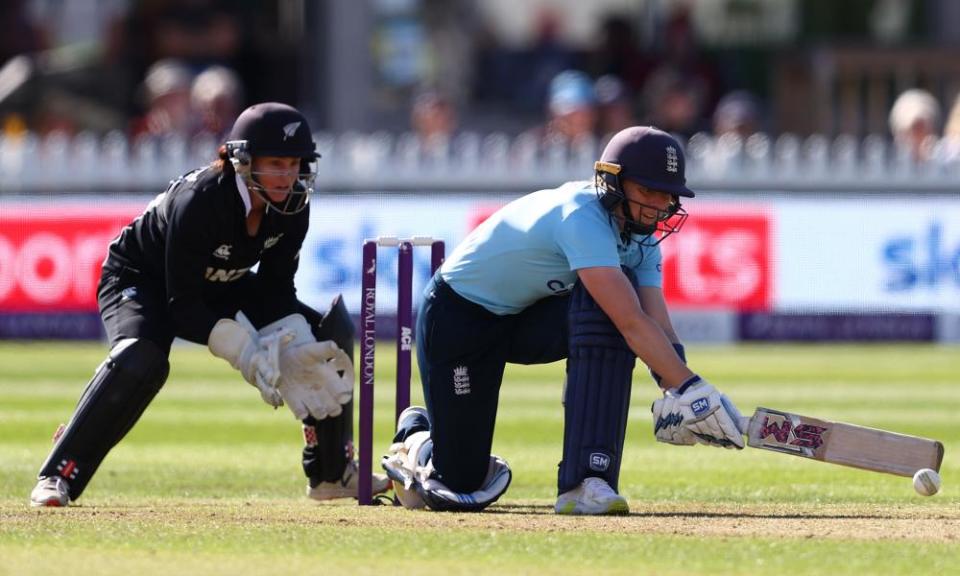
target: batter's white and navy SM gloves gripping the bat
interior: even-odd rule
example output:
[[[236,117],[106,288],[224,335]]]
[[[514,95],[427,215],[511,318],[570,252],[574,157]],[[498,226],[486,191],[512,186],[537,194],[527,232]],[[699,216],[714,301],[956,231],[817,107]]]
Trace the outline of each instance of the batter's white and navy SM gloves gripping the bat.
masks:
[[[740,411],[725,394],[709,382],[693,376],[676,390],[667,390],[656,400],[653,432],[657,440],[678,445],[697,442],[709,446],[742,449]]]

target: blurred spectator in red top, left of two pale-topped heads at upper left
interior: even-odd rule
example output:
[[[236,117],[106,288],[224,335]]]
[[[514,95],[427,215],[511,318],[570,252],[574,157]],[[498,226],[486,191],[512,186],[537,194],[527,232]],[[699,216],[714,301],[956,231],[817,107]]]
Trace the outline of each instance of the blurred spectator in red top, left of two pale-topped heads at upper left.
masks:
[[[147,111],[134,122],[132,135],[189,135],[194,126],[192,82],[193,73],[183,62],[166,59],[154,63],[142,87]]]

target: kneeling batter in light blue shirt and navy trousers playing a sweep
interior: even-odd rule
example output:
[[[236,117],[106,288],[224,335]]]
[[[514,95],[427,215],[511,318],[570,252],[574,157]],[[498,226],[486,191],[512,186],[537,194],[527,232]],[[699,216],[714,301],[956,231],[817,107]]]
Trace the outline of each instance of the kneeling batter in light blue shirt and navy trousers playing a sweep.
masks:
[[[490,448],[507,362],[567,359],[559,514],[629,511],[617,481],[637,357],[663,389],[657,440],[743,448],[739,412],[686,366],[661,290],[659,244],[693,196],[679,143],[631,127],[592,182],[511,202],[453,251],[418,318],[426,410],[401,414],[383,459],[402,504],[481,510],[506,491]]]

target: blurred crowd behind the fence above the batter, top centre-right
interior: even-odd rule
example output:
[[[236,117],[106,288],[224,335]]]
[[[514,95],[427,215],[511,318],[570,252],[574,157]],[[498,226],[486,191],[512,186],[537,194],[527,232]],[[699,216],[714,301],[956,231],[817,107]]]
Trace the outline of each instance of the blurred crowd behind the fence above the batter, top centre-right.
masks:
[[[522,58],[496,48],[481,50],[474,102],[500,103],[523,119],[541,117],[517,130],[537,140],[604,138],[626,126],[649,124],[689,138],[698,132],[747,135],[769,129],[761,98],[731,88],[719,67],[701,52],[690,15],[674,11],[656,45],[643,47],[634,26],[606,18],[596,46],[575,50],[557,39],[557,18],[543,12],[534,46]],[[462,100],[462,99],[460,99]],[[424,140],[450,138],[471,102],[438,86],[413,98],[410,125]],[[470,124],[464,122],[463,124]]]

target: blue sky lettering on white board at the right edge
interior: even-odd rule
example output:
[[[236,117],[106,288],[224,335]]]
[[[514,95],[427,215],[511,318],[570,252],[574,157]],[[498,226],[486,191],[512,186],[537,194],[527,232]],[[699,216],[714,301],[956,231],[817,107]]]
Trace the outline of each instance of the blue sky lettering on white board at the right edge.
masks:
[[[960,289],[960,234],[940,221],[914,235],[891,238],[882,248],[884,290]]]

